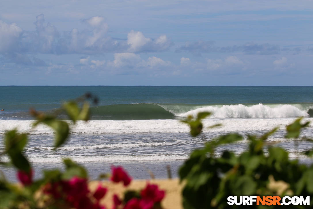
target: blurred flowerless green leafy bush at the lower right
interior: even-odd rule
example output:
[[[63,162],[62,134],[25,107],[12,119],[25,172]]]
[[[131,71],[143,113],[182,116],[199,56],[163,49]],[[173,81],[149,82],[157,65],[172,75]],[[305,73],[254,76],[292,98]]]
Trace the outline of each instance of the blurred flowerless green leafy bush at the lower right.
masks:
[[[198,115],[198,118],[202,118],[202,115]],[[199,127],[202,129],[198,118],[194,121],[189,119],[192,136],[200,133]],[[285,138],[299,137],[300,130],[309,124],[302,124],[301,120],[299,118],[286,127]],[[223,135],[207,142],[203,149],[194,150],[179,170],[180,179],[186,181],[182,191],[184,208],[240,208],[240,205],[228,205],[227,197],[268,195],[310,196],[310,206],[289,205],[288,208],[312,207],[313,165],[300,164],[297,159],[289,159],[285,149],[268,146],[266,140],[276,130],[274,128],[261,137],[246,136],[249,147],[239,155],[228,150],[223,151],[221,156],[214,152],[217,146],[242,140],[244,137],[239,134]],[[308,138],[305,140],[311,141]],[[304,154],[312,153],[312,150],[308,150]]]

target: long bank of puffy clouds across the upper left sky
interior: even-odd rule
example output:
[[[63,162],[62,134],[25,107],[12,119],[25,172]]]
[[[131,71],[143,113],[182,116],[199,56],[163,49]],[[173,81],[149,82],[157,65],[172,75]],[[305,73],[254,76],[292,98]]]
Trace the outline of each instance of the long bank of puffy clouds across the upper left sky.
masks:
[[[82,20],[86,29],[77,28],[60,33],[57,28],[46,22],[44,14],[39,14],[34,22],[34,31],[23,31],[17,24],[7,24],[0,20],[0,54],[22,58],[17,63],[39,63],[27,60],[27,54],[79,54],[96,55],[102,53],[140,53],[161,52],[172,45],[166,35],[156,39],[146,38],[140,31],[130,31],[127,39],[114,39],[108,35],[109,26],[101,16]],[[29,59],[29,58],[28,58]],[[88,61],[88,60],[86,60]],[[86,64],[80,60],[81,64]]]

